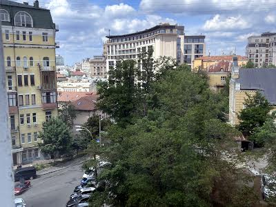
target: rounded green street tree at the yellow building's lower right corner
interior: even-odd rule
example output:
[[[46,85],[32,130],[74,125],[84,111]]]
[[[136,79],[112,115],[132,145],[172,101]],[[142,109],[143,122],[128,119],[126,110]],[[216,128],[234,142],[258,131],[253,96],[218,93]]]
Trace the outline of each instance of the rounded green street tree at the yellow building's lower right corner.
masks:
[[[72,135],[68,126],[59,118],[52,118],[43,123],[43,132],[39,133],[39,148],[54,159],[66,155],[72,149]]]

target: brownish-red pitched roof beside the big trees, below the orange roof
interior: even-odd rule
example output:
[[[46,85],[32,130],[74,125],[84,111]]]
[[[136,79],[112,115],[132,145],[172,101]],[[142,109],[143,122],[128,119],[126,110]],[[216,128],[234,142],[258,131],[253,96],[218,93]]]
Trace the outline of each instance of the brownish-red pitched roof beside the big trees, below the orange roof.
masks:
[[[72,105],[75,106],[76,110],[88,110],[92,111],[96,109],[96,103],[97,97],[88,95],[86,97],[81,97],[77,101],[72,102]]]

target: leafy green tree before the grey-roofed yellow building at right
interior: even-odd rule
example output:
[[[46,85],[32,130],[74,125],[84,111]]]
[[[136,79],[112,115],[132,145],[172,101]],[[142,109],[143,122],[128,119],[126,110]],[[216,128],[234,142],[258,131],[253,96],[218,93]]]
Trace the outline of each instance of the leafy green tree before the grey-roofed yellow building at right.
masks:
[[[264,121],[268,119],[268,112],[270,112],[271,107],[260,92],[256,92],[255,95],[246,95],[247,98],[244,100],[245,108],[238,115],[240,120],[238,128],[245,137],[250,137],[254,130],[263,126]]]

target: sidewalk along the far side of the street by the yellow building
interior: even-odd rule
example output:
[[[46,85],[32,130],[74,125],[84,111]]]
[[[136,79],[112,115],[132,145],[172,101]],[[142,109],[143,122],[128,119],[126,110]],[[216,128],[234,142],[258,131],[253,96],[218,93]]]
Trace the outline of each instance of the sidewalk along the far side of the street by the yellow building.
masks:
[[[89,157],[83,156],[83,157],[77,157],[70,161],[57,163],[57,165],[55,165],[55,166],[50,166],[48,168],[44,168],[42,170],[37,171],[37,175],[46,175],[46,174],[49,174],[52,172],[57,172],[59,170],[66,169],[70,166],[83,164],[83,162],[87,161],[88,159],[89,159]],[[56,162],[59,162],[59,161],[62,161],[62,159],[56,159]],[[26,168],[29,166],[35,166],[36,164],[53,164],[53,163],[54,163],[54,159],[40,160],[40,161],[34,161],[32,164],[22,165],[22,168]],[[14,166],[13,168],[15,170],[15,169],[17,169],[17,166]]]

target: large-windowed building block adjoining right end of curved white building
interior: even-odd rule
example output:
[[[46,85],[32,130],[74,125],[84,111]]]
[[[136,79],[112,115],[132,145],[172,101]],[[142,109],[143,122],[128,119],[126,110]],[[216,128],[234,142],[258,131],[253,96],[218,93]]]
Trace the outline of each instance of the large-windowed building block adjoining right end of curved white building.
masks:
[[[193,68],[193,61],[206,55],[204,35],[184,37],[184,63]]]

